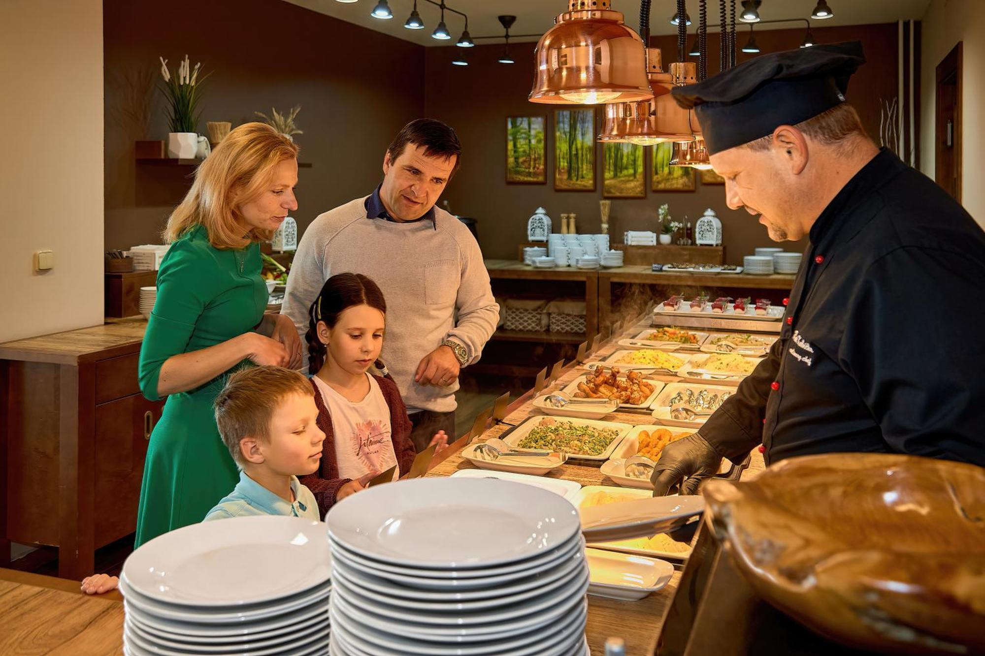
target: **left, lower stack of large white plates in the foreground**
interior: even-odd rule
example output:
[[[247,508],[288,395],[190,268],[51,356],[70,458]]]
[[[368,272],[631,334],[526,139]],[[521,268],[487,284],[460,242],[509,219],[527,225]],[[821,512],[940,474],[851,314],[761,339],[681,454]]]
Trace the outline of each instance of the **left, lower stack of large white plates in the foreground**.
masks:
[[[324,654],[331,569],[325,525],[309,519],[165,533],[123,564],[123,653]]]

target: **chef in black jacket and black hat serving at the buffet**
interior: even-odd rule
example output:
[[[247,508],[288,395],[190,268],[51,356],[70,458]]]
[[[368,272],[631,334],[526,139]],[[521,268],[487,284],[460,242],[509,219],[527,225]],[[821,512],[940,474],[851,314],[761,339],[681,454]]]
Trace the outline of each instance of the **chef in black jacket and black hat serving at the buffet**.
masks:
[[[808,236],[780,339],[696,433],[668,445],[661,495],[721,458],[884,452],[985,466],[985,233],[880,150],[845,101],[858,42],[756,57],[673,90],[693,107],[729,207]]]

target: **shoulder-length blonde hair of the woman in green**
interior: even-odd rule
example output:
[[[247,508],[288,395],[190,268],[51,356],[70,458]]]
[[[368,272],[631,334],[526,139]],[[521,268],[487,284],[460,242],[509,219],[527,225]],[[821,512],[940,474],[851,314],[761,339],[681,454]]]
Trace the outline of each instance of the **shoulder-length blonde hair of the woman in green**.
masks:
[[[270,239],[271,230],[243,234],[238,208],[263,193],[274,167],[296,158],[297,151],[293,141],[266,123],[243,123],[230,131],[199,164],[191,189],[167,219],[164,242],[200,225],[216,248],[242,248]]]

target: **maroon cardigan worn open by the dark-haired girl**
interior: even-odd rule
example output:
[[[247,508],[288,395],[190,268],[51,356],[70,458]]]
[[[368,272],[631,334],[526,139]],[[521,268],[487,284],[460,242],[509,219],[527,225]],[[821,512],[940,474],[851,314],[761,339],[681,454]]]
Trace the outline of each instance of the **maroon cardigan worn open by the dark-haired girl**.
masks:
[[[390,378],[380,376],[373,378],[379,383],[379,390],[383,393],[386,405],[390,407],[390,438],[393,440],[393,453],[397,456],[402,476],[411,470],[411,464],[417,455],[414,442],[411,441],[413,426],[407,416],[407,406],[400,396],[397,383]],[[301,477],[300,482],[314,494],[315,500],[318,501],[318,513],[324,518],[325,513],[335,504],[335,495],[339,489],[352,479],[339,478],[339,463],[335,460],[335,430],[332,428],[332,416],[321,398],[318,383],[314,378],[309,378],[309,382],[314,389],[314,402],[318,406],[318,427],[325,433],[325,443],[321,447],[321,466],[318,471]]]

